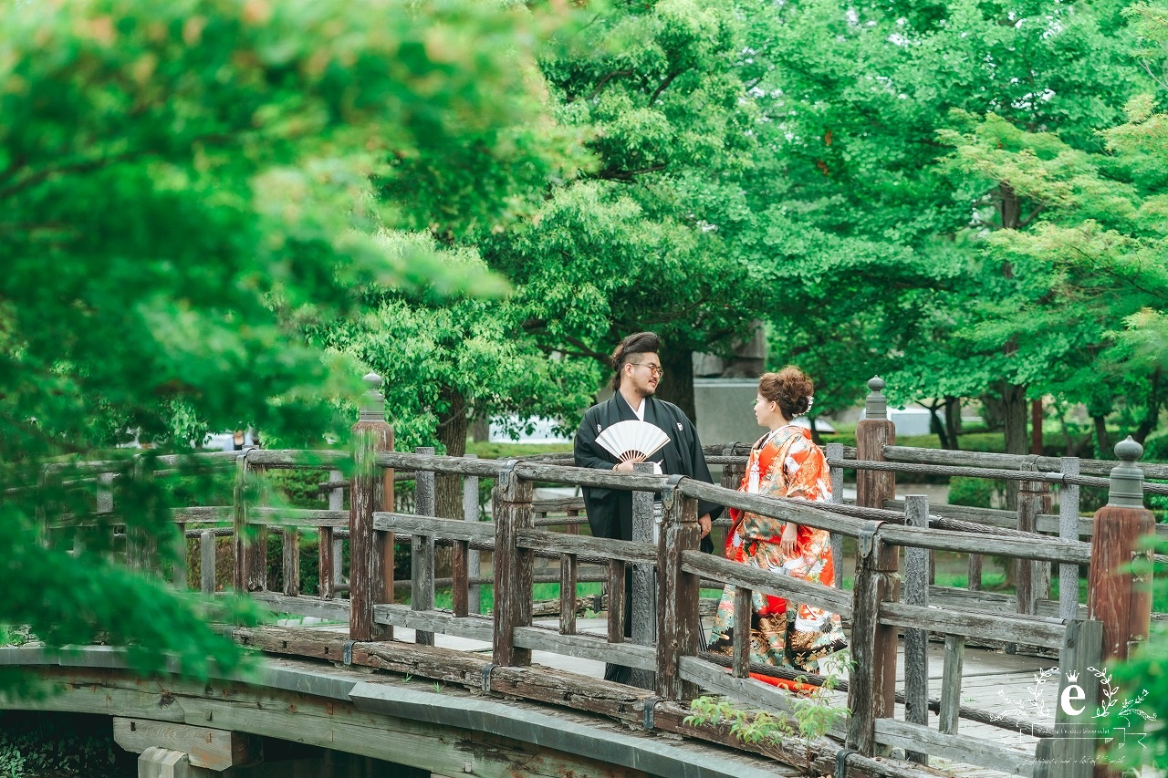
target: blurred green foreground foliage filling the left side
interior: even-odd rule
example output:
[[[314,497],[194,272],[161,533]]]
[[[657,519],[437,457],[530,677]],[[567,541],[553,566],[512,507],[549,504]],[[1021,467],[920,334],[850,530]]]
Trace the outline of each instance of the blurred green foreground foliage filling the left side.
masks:
[[[359,373],[306,345],[305,321],[370,283],[485,278],[389,251],[380,231],[437,202],[503,220],[571,166],[555,136],[516,130],[548,120],[531,75],[552,21],[457,0],[4,4],[0,623],[50,646],[102,634],[142,668],[164,652],[196,674],[238,660],[186,596],[111,564],[111,533],[76,555],[79,530],[46,534],[64,514],[107,526],[91,493],[27,487],[134,435],[182,451],[241,421],[327,430],[321,401]],[[489,175],[401,181],[401,160],[447,154]],[[169,548],[154,460],[120,467],[114,520]]]

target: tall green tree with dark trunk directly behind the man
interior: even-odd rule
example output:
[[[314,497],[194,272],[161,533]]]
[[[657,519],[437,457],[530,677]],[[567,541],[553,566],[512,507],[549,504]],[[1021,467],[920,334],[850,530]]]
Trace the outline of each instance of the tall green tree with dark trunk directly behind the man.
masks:
[[[543,60],[561,120],[598,161],[534,218],[482,244],[516,284],[547,353],[606,364],[632,332],[663,335],[660,395],[694,416],[691,355],[725,350],[757,315],[750,269],[710,218],[752,165],[744,100],[751,4],[696,0],[590,11],[571,51]]]

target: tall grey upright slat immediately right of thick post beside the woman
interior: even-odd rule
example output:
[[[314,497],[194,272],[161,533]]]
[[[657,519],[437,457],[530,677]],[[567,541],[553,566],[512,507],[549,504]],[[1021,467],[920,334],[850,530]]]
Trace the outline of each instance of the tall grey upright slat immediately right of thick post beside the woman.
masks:
[[[904,508],[909,527],[929,527],[929,498],[910,495]],[[904,550],[904,588],[901,599],[909,605],[929,606],[929,551],[920,548]],[[929,632],[904,632],[904,720],[913,724],[929,723]],[[916,764],[929,764],[929,755],[911,750],[905,758]]]

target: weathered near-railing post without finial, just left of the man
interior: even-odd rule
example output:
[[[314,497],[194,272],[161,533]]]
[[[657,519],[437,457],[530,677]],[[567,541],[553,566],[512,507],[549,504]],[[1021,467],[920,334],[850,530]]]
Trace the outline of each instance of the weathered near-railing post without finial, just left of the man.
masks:
[[[492,655],[503,667],[527,667],[531,650],[515,645],[515,628],[531,626],[531,562],[529,548],[520,548],[517,535],[531,529],[531,481],[515,473],[512,459],[499,471],[492,494],[495,519],[495,631]]]

